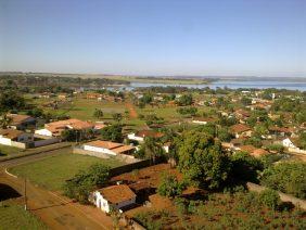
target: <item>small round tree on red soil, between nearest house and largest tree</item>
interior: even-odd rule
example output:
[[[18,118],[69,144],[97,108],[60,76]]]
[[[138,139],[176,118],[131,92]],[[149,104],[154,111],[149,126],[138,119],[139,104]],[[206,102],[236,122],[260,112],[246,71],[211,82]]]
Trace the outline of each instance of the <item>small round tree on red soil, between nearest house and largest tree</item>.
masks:
[[[157,193],[162,196],[174,199],[180,195],[186,189],[183,182],[179,182],[175,175],[163,175],[162,181],[157,188]]]

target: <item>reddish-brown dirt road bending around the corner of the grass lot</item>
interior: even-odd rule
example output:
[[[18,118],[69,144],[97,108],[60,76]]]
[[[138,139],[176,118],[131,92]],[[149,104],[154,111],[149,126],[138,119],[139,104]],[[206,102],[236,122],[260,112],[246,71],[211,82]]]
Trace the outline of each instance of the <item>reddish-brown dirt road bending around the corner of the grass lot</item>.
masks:
[[[23,194],[24,180],[5,174],[5,167],[56,154],[56,151],[50,151],[0,163],[0,183],[11,186]],[[73,203],[62,195],[38,188],[30,182],[27,182],[27,199],[30,212],[51,229],[112,229],[112,219],[97,208]]]

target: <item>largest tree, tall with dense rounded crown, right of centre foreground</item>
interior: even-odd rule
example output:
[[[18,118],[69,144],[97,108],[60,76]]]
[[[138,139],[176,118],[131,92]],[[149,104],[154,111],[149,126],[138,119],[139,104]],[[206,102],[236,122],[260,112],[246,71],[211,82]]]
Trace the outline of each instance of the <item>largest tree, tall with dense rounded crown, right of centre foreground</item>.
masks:
[[[178,157],[180,171],[187,181],[196,186],[216,189],[228,178],[228,158],[220,143],[207,133],[196,130],[184,132]]]

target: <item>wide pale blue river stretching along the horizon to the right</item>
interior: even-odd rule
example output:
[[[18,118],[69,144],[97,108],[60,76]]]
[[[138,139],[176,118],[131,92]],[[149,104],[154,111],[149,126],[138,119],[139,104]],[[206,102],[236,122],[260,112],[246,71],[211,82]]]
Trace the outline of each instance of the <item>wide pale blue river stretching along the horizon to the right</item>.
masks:
[[[306,82],[297,81],[277,81],[277,80],[217,80],[211,84],[203,85],[175,85],[175,84],[143,84],[143,82],[131,82],[128,87],[125,87],[128,90],[139,88],[139,87],[188,87],[188,88],[205,88],[209,87],[211,89],[216,89],[217,87],[230,89],[238,88],[256,88],[256,89],[267,89],[267,88],[277,88],[277,89],[290,89],[290,90],[299,90],[306,91]]]

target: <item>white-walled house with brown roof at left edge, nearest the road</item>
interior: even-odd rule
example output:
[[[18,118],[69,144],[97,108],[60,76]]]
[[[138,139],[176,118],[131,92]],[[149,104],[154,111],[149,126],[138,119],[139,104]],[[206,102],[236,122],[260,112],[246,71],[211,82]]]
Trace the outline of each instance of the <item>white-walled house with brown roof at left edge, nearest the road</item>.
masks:
[[[0,144],[15,146],[15,142],[27,143],[31,140],[31,133],[15,129],[0,129]]]

